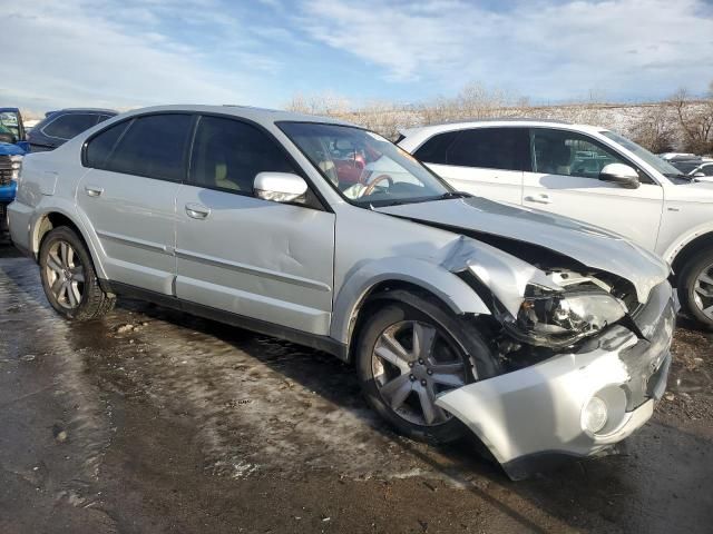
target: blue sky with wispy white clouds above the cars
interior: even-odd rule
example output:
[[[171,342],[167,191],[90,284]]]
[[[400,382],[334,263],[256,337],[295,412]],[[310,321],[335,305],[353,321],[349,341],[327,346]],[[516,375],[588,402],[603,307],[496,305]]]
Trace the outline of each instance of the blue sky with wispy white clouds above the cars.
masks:
[[[713,81],[712,0],[0,0],[0,106],[656,100]]]

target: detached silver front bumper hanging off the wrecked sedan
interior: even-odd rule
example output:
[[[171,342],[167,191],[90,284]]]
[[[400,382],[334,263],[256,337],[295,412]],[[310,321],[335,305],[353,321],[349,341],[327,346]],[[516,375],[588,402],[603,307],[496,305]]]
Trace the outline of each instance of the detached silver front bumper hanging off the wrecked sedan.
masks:
[[[468,425],[514,479],[538,458],[596,454],[651,418],[666,387],[675,313],[663,283],[632,328],[613,326],[575,353],[451,390],[437,405]],[[595,395],[608,421],[593,434],[583,409]]]

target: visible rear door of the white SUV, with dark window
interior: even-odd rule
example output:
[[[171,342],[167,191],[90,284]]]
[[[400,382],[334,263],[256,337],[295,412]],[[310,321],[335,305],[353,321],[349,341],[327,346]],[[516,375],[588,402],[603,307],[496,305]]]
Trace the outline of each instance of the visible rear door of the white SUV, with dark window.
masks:
[[[472,128],[433,136],[414,156],[460,191],[520,204],[527,147],[526,128]]]

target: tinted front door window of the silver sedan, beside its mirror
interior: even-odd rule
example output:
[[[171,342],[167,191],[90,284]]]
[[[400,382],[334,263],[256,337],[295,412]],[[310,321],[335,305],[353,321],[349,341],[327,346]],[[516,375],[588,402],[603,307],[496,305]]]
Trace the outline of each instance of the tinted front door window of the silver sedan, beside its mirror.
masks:
[[[254,126],[202,117],[191,158],[191,182],[211,189],[253,194],[255,175],[295,172],[281,148]]]

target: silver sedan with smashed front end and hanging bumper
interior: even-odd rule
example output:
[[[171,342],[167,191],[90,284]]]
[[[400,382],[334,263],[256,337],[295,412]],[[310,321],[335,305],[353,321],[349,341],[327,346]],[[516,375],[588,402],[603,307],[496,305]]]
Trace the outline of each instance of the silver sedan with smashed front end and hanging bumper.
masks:
[[[339,147],[364,159],[356,181],[340,182]],[[456,192],[333,119],[124,113],[26,157],[10,230],[67,319],[130,295],[326,350],[398,431],[449,442],[470,428],[514,478],[622,441],[666,386],[664,261]]]

